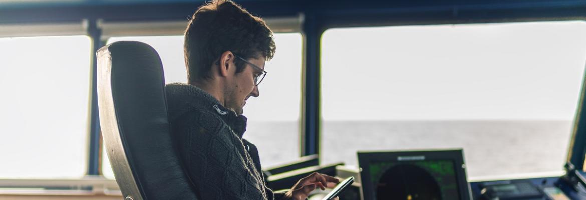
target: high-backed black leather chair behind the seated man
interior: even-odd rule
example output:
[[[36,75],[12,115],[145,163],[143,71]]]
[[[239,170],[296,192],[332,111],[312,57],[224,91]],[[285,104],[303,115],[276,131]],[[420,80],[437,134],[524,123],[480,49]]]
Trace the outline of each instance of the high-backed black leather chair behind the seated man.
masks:
[[[197,199],[169,131],[161,58],[139,42],[97,52],[104,143],[125,200]]]

